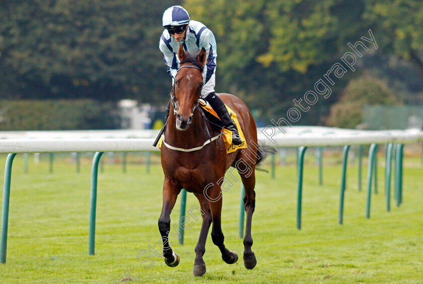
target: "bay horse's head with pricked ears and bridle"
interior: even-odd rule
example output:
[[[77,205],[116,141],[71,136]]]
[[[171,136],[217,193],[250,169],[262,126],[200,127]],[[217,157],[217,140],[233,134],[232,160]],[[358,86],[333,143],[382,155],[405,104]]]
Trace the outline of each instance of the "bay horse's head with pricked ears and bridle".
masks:
[[[185,53],[181,44],[178,57],[180,67],[175,78],[174,112],[176,113],[176,128],[186,130],[192,122],[192,115],[201,94],[206,53],[204,48],[192,54]]]

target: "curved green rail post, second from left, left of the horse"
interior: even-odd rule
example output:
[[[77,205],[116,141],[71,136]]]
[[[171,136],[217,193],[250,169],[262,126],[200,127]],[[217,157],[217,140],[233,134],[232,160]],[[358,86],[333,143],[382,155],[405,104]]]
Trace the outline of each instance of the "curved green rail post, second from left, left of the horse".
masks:
[[[91,171],[91,201],[90,201],[90,233],[88,240],[88,254],[94,255],[96,239],[96,209],[97,209],[97,177],[98,163],[103,152],[94,155],[93,167]]]

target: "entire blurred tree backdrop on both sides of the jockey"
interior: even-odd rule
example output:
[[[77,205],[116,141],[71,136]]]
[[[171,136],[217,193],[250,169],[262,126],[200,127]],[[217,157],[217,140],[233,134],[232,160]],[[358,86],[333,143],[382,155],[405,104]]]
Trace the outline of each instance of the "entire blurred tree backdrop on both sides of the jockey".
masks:
[[[170,82],[158,41],[162,13],[175,4],[0,2],[0,96],[164,103]],[[368,36],[369,29],[378,54],[401,56],[423,75],[419,0],[185,0],[183,6],[216,36],[216,90],[240,96],[262,119],[286,113],[294,98],[312,90],[351,51],[347,43]],[[337,79],[332,95],[299,123],[322,123],[320,117],[360,72]]]

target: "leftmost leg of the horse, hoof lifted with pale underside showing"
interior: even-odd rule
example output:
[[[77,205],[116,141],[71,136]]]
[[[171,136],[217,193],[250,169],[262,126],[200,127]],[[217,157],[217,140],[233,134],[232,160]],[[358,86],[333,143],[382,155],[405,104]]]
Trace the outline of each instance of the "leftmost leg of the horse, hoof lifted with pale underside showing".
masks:
[[[165,263],[170,267],[175,267],[179,264],[179,255],[172,251],[169,246],[169,232],[170,232],[170,213],[173,206],[175,206],[181,188],[173,181],[165,177],[163,184],[163,206],[162,213],[159,218],[159,231],[163,240],[163,256]]]

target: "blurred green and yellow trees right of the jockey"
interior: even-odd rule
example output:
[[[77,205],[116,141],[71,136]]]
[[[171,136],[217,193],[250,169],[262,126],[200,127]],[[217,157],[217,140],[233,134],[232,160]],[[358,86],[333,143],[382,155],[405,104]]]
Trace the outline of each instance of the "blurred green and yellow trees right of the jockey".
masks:
[[[217,88],[235,92],[250,107],[265,110],[267,118],[284,115],[292,99],[312,90],[328,68],[351,51],[347,43],[369,37],[369,29],[378,53],[401,55],[423,69],[418,51],[423,49],[423,6],[418,0],[185,2],[192,18],[217,37]],[[369,53],[374,52],[371,47]],[[346,82],[360,73],[338,79],[332,96],[313,106],[301,123],[321,122],[319,117],[328,114]]]

